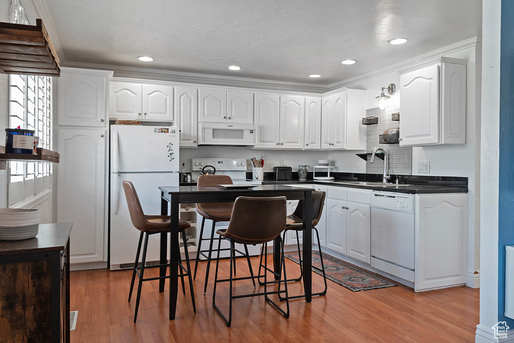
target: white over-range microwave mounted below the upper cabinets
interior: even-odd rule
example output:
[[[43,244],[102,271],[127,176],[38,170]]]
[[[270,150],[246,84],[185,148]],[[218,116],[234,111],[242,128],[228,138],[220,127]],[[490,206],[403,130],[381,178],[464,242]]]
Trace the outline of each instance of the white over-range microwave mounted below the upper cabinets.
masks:
[[[253,146],[253,124],[198,123],[198,145]]]

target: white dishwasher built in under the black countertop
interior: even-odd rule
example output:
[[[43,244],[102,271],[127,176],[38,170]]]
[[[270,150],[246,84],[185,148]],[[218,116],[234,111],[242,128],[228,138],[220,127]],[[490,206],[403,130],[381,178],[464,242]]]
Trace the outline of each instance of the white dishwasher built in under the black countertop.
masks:
[[[414,282],[415,195],[371,193],[371,266]]]

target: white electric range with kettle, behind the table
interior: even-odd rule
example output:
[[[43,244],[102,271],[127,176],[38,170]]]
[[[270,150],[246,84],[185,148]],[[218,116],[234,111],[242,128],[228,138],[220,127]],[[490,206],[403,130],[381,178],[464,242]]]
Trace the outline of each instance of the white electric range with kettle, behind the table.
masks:
[[[249,162],[250,163],[250,162]],[[246,158],[229,158],[229,157],[204,157],[204,158],[192,158],[191,159],[191,178],[194,182],[198,180],[198,177],[201,175],[202,169],[204,172],[207,172],[208,169],[214,171],[215,169],[215,175],[228,175],[232,178],[232,182],[234,185],[261,185],[262,181],[255,181],[255,180],[248,180],[246,178],[246,170],[247,168],[251,166],[247,165]],[[198,234],[200,234],[200,226],[201,226],[201,220],[202,216],[199,214],[196,214],[196,229]],[[216,230],[217,229],[226,229],[228,227],[228,222],[217,222],[216,223]],[[210,238],[212,232],[212,221],[206,219],[205,220],[205,226],[204,226],[204,238]],[[214,237],[216,237],[217,234],[214,233]],[[237,244],[238,245],[238,244]],[[241,246],[236,248],[238,250],[244,251]],[[228,248],[230,245],[228,244],[227,240],[222,240],[222,248]],[[213,248],[217,248],[217,242],[216,245],[213,245]],[[257,256],[261,253],[261,245],[251,245],[248,244],[248,252],[250,256]],[[205,250],[209,248],[209,242],[204,241],[202,243],[201,249]],[[229,257],[229,251],[225,250],[222,251],[220,254],[221,257]],[[216,257],[215,252],[213,252],[213,257]],[[206,260],[203,256],[200,255],[201,260]],[[255,272],[255,270],[254,270]]]

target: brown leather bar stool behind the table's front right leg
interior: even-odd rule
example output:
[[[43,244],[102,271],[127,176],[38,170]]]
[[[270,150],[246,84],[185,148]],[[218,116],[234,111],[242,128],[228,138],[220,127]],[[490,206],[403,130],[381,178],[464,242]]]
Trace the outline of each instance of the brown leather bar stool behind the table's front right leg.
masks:
[[[313,268],[318,269],[320,272],[323,273],[323,279],[325,281],[325,289],[322,292],[312,294],[313,296],[315,296],[315,295],[325,295],[326,290],[328,288],[327,283],[326,283],[325,266],[323,264],[323,255],[321,253],[320,235],[319,235],[318,229],[316,228],[316,225],[318,225],[318,223],[320,221],[321,214],[323,213],[323,207],[324,207],[324,203],[325,203],[325,195],[326,194],[323,191],[313,191],[312,194],[313,194],[313,202],[312,202],[313,207],[312,207],[311,213],[313,213],[313,216],[314,216],[312,226],[313,226],[314,232],[316,232],[316,238],[318,239],[318,248],[319,248],[319,254],[320,254],[320,261],[321,261],[321,269],[314,267],[314,266],[313,266]],[[293,212],[291,215],[287,216],[287,224],[286,224],[286,228],[284,230],[284,237],[283,237],[284,241],[286,239],[287,231],[289,231],[289,230],[297,231],[296,240],[297,240],[297,245],[298,245],[298,259],[300,262],[300,276],[295,279],[287,280],[288,282],[289,281],[300,281],[300,280],[302,280],[302,276],[303,276],[300,238],[298,236],[298,233],[303,230],[302,218],[303,218],[303,201],[300,200],[298,202],[298,206],[295,209],[295,212]],[[263,257],[262,257],[262,252],[261,252],[261,261],[262,261],[262,258]],[[259,267],[259,276],[260,275],[261,275],[261,268]],[[260,277],[262,278],[262,276],[260,276]],[[274,282],[274,281],[271,281],[271,282]],[[262,282],[259,282],[259,283],[261,285],[263,284]],[[305,297],[305,295],[290,296],[289,299],[303,298],[303,297]]]

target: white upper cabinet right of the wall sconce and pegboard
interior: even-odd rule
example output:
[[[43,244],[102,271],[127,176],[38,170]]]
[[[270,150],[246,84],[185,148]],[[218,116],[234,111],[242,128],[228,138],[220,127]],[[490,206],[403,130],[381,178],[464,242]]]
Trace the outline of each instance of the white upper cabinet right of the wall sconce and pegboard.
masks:
[[[466,143],[466,63],[438,58],[400,70],[400,146]]]

